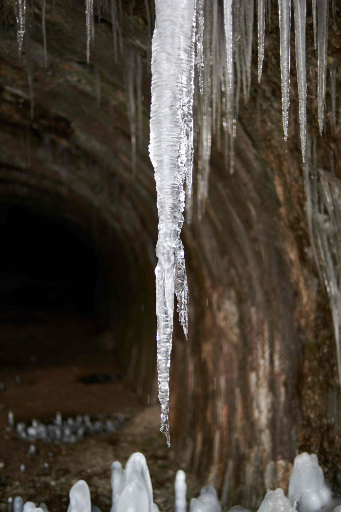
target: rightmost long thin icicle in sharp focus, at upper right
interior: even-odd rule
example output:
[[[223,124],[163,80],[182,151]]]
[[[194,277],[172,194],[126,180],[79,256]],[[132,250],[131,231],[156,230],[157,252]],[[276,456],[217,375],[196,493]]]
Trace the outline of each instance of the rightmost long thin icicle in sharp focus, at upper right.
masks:
[[[317,0],[317,110],[320,135],[323,134],[323,118],[327,79],[327,45],[328,45],[328,0]]]

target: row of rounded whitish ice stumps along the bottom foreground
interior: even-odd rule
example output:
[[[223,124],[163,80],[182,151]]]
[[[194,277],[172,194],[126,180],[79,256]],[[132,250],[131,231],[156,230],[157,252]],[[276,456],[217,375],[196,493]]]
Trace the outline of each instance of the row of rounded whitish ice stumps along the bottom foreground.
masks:
[[[110,512],[159,512],[153,502],[153,488],[147,461],[143,454],[132,454],[123,469],[120,462],[111,465],[112,506]],[[90,490],[84,480],[78,480],[70,489],[68,512],[99,512],[91,505]],[[38,508],[31,501],[24,504],[17,496],[8,498],[8,512],[48,512],[45,503]],[[341,499],[333,499],[329,487],[325,484],[322,468],[317,456],[302,453],[295,458],[289,481],[289,499],[283,489],[270,490],[257,512],[319,512],[324,508],[330,512],[341,512]],[[175,512],[187,511],[187,484],[184,471],[179,470],[175,477]],[[190,501],[189,512],[222,512],[216,490],[206,485],[198,498]],[[239,505],[229,512],[250,512]]]

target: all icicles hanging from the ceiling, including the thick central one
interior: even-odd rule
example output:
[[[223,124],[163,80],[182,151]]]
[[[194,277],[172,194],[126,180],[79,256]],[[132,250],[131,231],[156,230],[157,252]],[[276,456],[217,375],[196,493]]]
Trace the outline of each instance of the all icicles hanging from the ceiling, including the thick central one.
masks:
[[[310,2],[310,0],[309,0]],[[254,21],[254,3],[257,20]],[[118,8],[117,8],[118,6]],[[336,275],[337,255],[333,254],[337,243],[332,238],[340,229],[339,200],[333,195],[333,183],[325,175],[314,172],[319,181],[316,188],[310,184],[309,166],[311,143],[307,139],[307,80],[306,80],[306,28],[307,7],[312,11],[314,44],[317,48],[317,110],[320,135],[324,129],[324,110],[327,80],[328,0],[278,0],[280,72],[282,79],[282,116],[284,138],[288,137],[288,115],[290,104],[290,34],[291,11],[294,13],[297,93],[299,104],[300,146],[303,162],[306,163],[306,192],[308,224],[316,263],[330,297],[335,339],[337,344],[339,374],[340,356],[340,293],[339,276]],[[332,0],[335,23],[335,0]],[[154,5],[152,6],[154,9]],[[19,55],[25,32],[26,1],[15,0],[17,41]],[[149,0],[145,0],[148,30],[152,32],[152,14]],[[113,32],[113,58],[118,54],[125,61],[125,88],[128,98],[128,118],[132,143],[132,172],[136,167],[136,134],[141,141],[142,66],[139,55],[123,48],[121,28],[122,0],[85,0],[86,13],[86,58],[90,60],[90,48],[94,38],[94,11],[111,18]],[[156,312],[158,318],[157,346],[159,399],[162,404],[162,431],[169,442],[169,365],[173,331],[173,297],[178,300],[178,312],[187,337],[188,287],[185,269],[184,248],[180,231],[184,221],[184,182],[187,181],[186,217],[192,218],[192,165],[193,165],[193,97],[194,83],[197,101],[196,123],[198,126],[197,155],[197,215],[205,212],[208,197],[208,178],[212,136],[218,148],[222,147],[225,135],[225,159],[229,172],[234,172],[234,139],[239,109],[240,90],[243,88],[247,102],[250,95],[252,38],[254,27],[258,34],[258,81],[262,78],[265,23],[270,22],[271,1],[268,0],[155,0],[155,30],[152,41],[152,103],[150,122],[150,157],[155,169],[159,236],[156,247]],[[118,14],[118,15],[117,15]],[[45,35],[45,0],[42,3],[44,55],[47,62]],[[312,26],[310,26],[312,25]],[[194,80],[194,68],[197,80]],[[332,118],[336,127],[336,80],[339,70],[330,69],[332,91]],[[135,92],[136,91],[136,92]],[[136,95],[136,96],[135,96]],[[137,106],[135,105],[135,97]],[[223,129],[223,130],[222,130]],[[228,172],[228,171],[227,171]],[[337,188],[337,187],[336,187]],[[329,208],[331,204],[337,208]],[[327,208],[325,211],[324,206]],[[322,209],[321,209],[322,208]],[[329,219],[329,220],[328,220]],[[325,224],[334,226],[325,229]],[[338,227],[337,227],[338,226]],[[315,242],[316,241],[316,242]],[[338,249],[337,249],[338,250]],[[338,258],[340,252],[338,252]],[[339,261],[339,259],[338,259]],[[336,272],[336,273],[335,273]]]

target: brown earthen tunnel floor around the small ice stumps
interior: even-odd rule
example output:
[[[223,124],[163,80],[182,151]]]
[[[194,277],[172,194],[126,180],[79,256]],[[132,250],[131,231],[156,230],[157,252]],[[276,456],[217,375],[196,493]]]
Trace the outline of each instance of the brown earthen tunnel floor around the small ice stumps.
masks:
[[[79,325],[77,329],[76,324],[74,322],[73,332],[77,333],[75,344],[78,345],[82,339],[82,330],[79,330]],[[44,325],[46,327],[46,322]],[[6,335],[10,333],[12,336],[7,354],[15,350],[17,336],[13,333],[21,332],[22,335],[25,331],[32,336],[28,332],[30,329],[33,329],[32,325],[26,331],[23,326],[0,326],[2,348]],[[63,332],[59,330],[58,334]],[[70,335],[72,329],[68,332]],[[89,326],[87,332],[91,338]],[[41,340],[43,338],[41,336]],[[84,343],[86,347],[87,343]],[[75,352],[76,348],[73,348]],[[12,353],[11,364],[3,367],[0,378],[6,386],[5,392],[0,395],[1,503],[5,504],[10,496],[22,496],[24,502],[30,500],[36,505],[45,502],[50,512],[67,510],[70,487],[76,480],[84,479],[90,488],[92,504],[109,512],[111,463],[119,460],[124,466],[131,453],[142,452],[147,458],[155,503],[161,510],[173,509],[175,473],[179,468],[186,471],[186,467],[179,454],[172,448],[168,449],[164,435],[159,432],[159,407],[143,406],[124,378],[103,383],[84,383],[78,380],[79,377],[94,373],[122,373],[112,354],[101,353],[101,350],[96,351],[95,355],[78,352],[77,357],[58,360],[56,364],[51,364],[48,359],[43,364],[31,357],[28,367],[23,365],[23,357],[19,353],[17,365],[13,358]],[[21,386],[15,383],[16,375],[21,378]],[[6,430],[9,410],[14,413],[15,423],[30,423],[32,418],[52,419],[56,411],[60,411],[64,417],[76,414],[124,414],[126,421],[113,434],[88,436],[74,444],[44,443],[40,440],[32,442],[21,440],[14,431]],[[36,455],[28,454],[30,444],[35,445]],[[50,468],[48,475],[44,473],[43,467],[46,462]],[[25,473],[19,471],[20,464],[25,465]],[[188,496],[197,496],[200,486],[190,474],[187,475],[187,484]]]

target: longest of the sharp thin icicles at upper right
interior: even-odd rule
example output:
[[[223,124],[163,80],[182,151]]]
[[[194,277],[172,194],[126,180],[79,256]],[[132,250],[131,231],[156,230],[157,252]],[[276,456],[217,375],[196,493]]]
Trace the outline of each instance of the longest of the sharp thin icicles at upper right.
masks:
[[[300,143],[302,158],[305,161],[307,136],[306,0],[294,0],[294,13]]]

